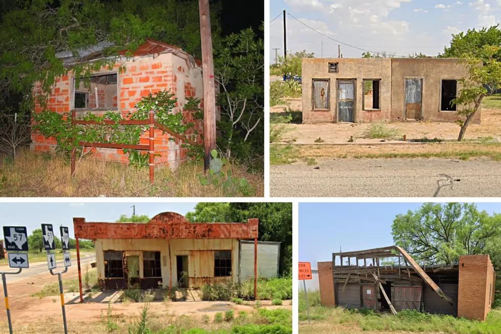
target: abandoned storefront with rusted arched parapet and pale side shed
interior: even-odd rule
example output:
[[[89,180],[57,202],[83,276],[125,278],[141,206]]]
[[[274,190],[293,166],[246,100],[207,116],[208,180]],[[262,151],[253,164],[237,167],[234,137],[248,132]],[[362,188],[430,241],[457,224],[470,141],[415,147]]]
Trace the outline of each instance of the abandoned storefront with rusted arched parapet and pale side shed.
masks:
[[[93,240],[102,289],[195,288],[278,275],[280,242],[257,241],[258,219],[190,223],[163,212],[147,224],[73,221],[78,265],[78,240]],[[82,298],[82,290],[80,294]]]

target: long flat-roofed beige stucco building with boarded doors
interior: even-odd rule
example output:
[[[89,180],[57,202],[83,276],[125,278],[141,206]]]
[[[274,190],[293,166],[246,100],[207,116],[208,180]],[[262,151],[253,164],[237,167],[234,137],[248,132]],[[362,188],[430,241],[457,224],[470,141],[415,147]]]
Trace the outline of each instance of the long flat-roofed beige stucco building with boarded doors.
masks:
[[[302,75],[303,123],[363,123],[454,122],[469,74],[456,58],[303,58]]]

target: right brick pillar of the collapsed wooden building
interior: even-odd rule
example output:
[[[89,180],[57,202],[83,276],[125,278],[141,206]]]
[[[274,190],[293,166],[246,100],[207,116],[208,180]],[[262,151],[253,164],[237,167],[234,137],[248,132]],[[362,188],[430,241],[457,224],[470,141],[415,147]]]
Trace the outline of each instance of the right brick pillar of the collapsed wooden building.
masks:
[[[460,256],[458,317],[484,321],[491,310],[494,283],[489,255]]]

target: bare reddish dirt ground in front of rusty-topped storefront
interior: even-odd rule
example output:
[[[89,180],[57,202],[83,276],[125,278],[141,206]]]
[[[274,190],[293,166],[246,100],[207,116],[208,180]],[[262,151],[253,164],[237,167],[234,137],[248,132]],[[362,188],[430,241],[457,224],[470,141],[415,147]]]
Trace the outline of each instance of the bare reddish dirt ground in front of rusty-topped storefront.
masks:
[[[67,273],[63,274],[63,281],[78,278],[77,266],[72,266]],[[49,273],[39,274],[30,278],[9,283],[7,276],[7,288],[9,293],[9,305],[13,322],[38,322],[47,319],[61,318],[61,303],[59,296],[49,296],[44,298],[30,297],[31,294],[42,290],[45,284],[57,283],[57,276]],[[3,288],[3,287],[2,287]],[[99,321],[101,311],[106,314],[108,307],[107,300],[101,302],[80,303],[78,293],[64,294],[66,317],[70,323],[72,321]],[[162,302],[154,301],[150,303],[150,313],[169,315],[177,317],[180,315],[196,316],[208,315],[214,317],[217,312],[233,309],[235,313],[244,310],[249,313],[254,310],[254,302],[249,305],[237,305],[232,302]],[[284,305],[271,306],[271,301],[261,301],[261,306],[269,309],[286,308],[292,309],[290,301],[284,301]],[[113,314],[119,318],[130,318],[139,316],[143,303],[122,303],[112,302]],[[4,298],[0,301],[0,328],[7,328],[7,313]],[[5,327],[4,327],[5,326]],[[2,332],[2,330],[0,330]]]

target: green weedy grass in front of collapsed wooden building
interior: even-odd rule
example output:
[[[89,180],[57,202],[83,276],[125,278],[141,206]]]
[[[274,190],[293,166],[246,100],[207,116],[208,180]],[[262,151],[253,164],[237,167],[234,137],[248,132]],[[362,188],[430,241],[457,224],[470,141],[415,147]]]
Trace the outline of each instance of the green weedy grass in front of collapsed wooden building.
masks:
[[[446,334],[498,334],[501,333],[501,310],[492,310],[485,322],[430,315],[419,311],[404,310],[398,315],[375,313],[372,309],[346,309],[320,304],[318,291],[308,292],[310,321],[307,322],[304,293],[299,295],[299,332],[323,334],[332,332],[375,333],[425,332]]]

